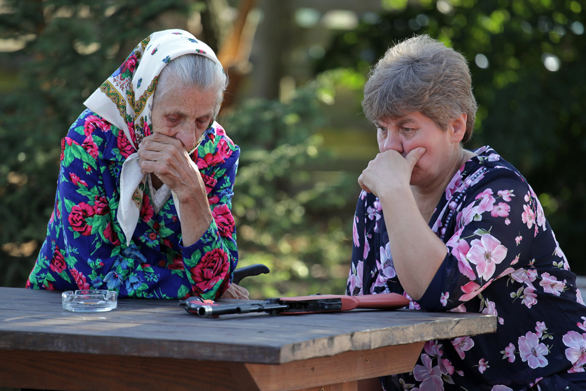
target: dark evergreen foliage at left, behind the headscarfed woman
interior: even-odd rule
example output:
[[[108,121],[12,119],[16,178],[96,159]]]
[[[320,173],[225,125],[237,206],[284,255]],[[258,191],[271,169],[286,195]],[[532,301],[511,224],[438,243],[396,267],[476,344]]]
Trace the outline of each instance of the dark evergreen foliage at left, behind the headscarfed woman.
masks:
[[[5,0],[0,53],[16,86],[0,94],[0,284],[23,286],[52,212],[60,140],[83,101],[137,42],[165,23],[185,28],[188,0]]]

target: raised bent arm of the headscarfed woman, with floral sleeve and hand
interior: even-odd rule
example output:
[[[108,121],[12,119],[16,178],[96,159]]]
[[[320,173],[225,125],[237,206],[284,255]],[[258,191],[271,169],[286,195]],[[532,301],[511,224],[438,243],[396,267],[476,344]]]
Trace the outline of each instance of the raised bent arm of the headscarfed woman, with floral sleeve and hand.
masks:
[[[165,134],[145,137],[138,149],[141,171],[156,175],[176,195],[185,269],[192,290],[206,298],[224,293],[237,263],[230,206],[240,150],[214,126],[197,149],[197,164],[180,140]],[[211,192],[204,177],[215,183]]]

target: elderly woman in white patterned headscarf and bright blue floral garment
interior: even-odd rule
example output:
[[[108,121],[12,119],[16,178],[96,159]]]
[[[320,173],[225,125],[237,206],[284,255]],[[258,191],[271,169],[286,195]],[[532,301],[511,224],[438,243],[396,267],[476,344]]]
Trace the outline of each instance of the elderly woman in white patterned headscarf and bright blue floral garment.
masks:
[[[214,121],[226,86],[212,49],[186,31],[139,43],[62,140],[53,215],[27,287],[226,292],[238,260],[230,207],[240,155]]]

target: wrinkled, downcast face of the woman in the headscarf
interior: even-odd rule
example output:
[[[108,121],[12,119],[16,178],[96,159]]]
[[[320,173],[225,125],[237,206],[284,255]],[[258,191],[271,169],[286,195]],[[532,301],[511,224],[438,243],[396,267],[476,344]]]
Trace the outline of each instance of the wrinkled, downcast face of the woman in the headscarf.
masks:
[[[213,120],[217,94],[197,87],[170,88],[152,107],[152,130],[180,140],[190,151]]]

